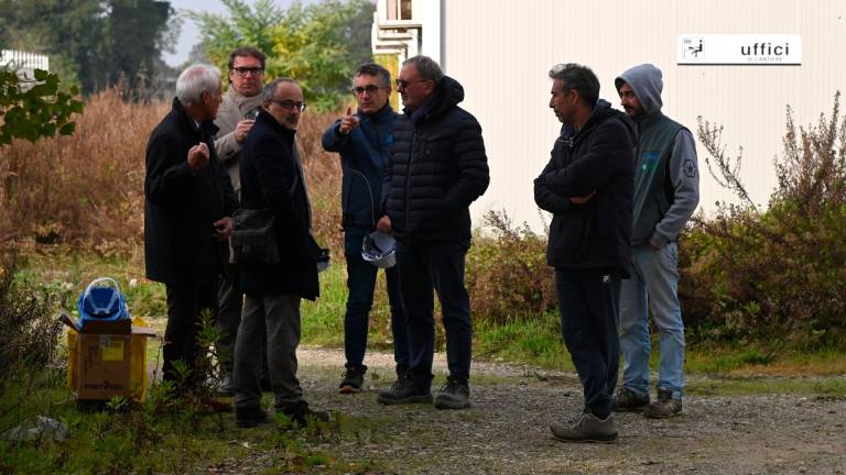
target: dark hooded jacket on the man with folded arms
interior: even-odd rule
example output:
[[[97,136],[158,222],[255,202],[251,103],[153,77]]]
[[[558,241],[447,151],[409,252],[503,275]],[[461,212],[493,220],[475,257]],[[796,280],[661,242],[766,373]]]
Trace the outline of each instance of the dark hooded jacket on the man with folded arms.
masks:
[[[631,268],[634,187],[634,126],[607,102],[578,133],[568,128],[555,141],[552,158],[534,180],[534,200],[553,213],[546,262],[564,269]],[[584,205],[571,197],[596,192]]]

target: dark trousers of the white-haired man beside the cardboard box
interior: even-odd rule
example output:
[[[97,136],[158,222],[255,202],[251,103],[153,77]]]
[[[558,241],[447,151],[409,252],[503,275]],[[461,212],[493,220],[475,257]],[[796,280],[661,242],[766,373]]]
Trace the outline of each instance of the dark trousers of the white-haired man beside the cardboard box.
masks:
[[[193,369],[197,358],[197,334],[199,316],[209,310],[217,313],[217,285],[165,285],[167,294],[167,327],[164,330],[164,363],[162,377],[176,380],[173,363],[182,360]],[[214,320],[213,320],[214,321]],[[202,377],[203,375],[192,375]]]

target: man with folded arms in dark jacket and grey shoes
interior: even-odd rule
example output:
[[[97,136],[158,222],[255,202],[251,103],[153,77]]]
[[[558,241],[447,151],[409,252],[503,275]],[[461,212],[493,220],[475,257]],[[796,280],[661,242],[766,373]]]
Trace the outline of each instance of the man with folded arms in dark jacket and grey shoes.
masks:
[[[561,331],[585,395],[576,424],[551,429],[567,442],[609,442],[617,439],[620,279],[631,267],[634,128],[598,100],[589,68],[558,65],[550,78],[550,108],[564,126],[534,180],[534,200],[553,213],[546,262],[555,267]]]

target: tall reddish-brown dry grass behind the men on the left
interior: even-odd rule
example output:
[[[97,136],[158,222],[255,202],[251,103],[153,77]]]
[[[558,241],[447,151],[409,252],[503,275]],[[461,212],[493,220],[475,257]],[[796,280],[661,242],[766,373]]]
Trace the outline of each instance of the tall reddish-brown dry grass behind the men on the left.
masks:
[[[63,242],[104,256],[135,255],[143,239],[144,148],[169,109],[124,102],[107,90],[87,101],[74,135],[0,148],[0,246]],[[340,167],[319,143],[332,120],[304,115],[300,143],[318,241],[337,252]]]

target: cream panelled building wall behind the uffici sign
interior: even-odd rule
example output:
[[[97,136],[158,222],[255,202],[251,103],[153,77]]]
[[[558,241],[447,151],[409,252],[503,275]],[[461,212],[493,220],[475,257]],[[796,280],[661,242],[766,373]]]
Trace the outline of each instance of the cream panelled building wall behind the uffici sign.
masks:
[[[614,78],[655,64],[664,73],[664,112],[694,134],[698,115],[725,125],[727,151],[736,155],[744,146],[741,177],[763,205],[776,185],[785,107],[798,124],[815,122],[846,88],[843,0],[443,0],[442,8],[442,62],[465,87],[463,106],[481,123],[490,159],[491,186],[473,208],[477,223],[488,209],[502,208],[517,222],[541,222],[532,179],[560,128],[547,107],[554,64],[590,66],[600,96],[618,108]],[[676,65],[676,36],[691,33],[800,34],[802,65]],[[736,201],[709,176],[702,146],[698,152],[701,206],[707,212],[716,200]]]

